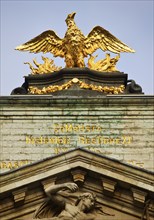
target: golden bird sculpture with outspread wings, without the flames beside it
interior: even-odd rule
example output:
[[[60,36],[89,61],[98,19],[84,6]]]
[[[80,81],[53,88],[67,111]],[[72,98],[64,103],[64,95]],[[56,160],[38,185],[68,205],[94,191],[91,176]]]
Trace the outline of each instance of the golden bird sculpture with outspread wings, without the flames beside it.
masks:
[[[63,39],[57,36],[53,30],[48,30],[32,40],[16,47],[17,50],[30,51],[32,53],[52,53],[54,57],[65,58],[67,68],[85,67],[84,58],[94,53],[97,49],[121,52],[135,52],[109,31],[96,26],[84,36],[74,22],[75,12],[66,18],[67,31]]]

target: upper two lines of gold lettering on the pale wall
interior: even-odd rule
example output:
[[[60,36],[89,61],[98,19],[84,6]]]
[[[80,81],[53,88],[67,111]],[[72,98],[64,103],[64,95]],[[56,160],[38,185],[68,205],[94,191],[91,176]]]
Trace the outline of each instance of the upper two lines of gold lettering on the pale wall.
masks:
[[[26,136],[26,144],[51,144],[55,146],[72,145],[129,145],[131,136],[109,136],[109,133],[100,125],[94,124],[53,124],[53,132],[50,136]]]

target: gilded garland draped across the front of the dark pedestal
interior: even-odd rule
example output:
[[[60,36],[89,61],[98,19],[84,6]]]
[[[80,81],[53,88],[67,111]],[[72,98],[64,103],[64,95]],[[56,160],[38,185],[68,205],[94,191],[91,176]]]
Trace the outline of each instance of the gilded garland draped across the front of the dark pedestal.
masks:
[[[124,85],[120,85],[117,87],[116,86],[93,85],[93,84],[87,84],[79,80],[78,78],[73,78],[72,80],[70,80],[69,82],[63,85],[50,85],[48,87],[43,87],[42,89],[30,86],[28,90],[30,94],[41,95],[41,94],[54,93],[54,92],[61,91],[61,90],[67,90],[73,84],[79,85],[81,89],[88,89],[88,90],[98,91],[98,92],[107,93],[107,94],[123,93],[125,89]]]

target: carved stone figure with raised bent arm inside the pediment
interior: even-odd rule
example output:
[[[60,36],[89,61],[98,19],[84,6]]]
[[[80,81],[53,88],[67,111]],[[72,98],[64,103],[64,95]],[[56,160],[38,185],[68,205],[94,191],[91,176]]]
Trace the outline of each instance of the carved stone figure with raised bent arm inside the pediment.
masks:
[[[47,200],[35,211],[33,219],[48,220],[103,220],[113,219],[96,204],[92,193],[76,195],[75,183],[49,186],[45,192]]]

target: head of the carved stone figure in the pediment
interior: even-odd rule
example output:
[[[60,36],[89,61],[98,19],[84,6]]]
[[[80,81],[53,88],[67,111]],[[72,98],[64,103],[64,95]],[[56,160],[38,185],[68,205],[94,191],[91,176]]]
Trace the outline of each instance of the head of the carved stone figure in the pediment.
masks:
[[[78,205],[80,202],[82,202],[84,206],[84,211],[88,212],[89,210],[93,209],[96,202],[96,197],[92,193],[83,193],[81,196],[79,196],[78,200],[76,201],[76,205]]]

